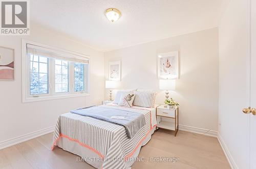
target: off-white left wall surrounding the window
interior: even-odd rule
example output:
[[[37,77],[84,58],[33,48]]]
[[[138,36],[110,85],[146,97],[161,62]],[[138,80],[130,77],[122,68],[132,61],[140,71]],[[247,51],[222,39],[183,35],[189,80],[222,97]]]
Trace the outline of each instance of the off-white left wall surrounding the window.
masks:
[[[22,103],[22,38],[65,49],[91,58],[90,96]],[[104,98],[103,53],[32,25],[30,36],[1,36],[0,46],[15,50],[15,80],[0,81],[0,143],[24,134],[52,127],[58,115],[72,109],[100,104]]]

